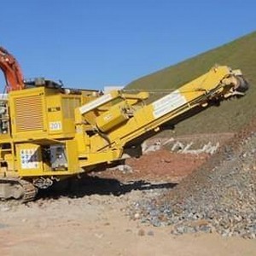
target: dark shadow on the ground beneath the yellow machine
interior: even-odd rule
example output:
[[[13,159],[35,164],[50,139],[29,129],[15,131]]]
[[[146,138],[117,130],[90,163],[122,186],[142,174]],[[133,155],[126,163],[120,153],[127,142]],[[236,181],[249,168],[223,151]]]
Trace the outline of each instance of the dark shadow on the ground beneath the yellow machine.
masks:
[[[125,195],[132,190],[172,189],[177,183],[148,183],[143,180],[121,183],[114,178],[83,177],[56,183],[52,188],[39,190],[38,198],[57,199],[60,196],[70,198],[84,195]]]

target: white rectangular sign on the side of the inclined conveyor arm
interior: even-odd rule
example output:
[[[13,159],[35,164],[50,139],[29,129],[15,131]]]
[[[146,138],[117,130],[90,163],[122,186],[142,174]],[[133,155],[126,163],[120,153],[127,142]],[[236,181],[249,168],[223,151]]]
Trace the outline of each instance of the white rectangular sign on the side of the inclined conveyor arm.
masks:
[[[181,107],[186,102],[185,97],[178,90],[175,90],[153,103],[154,118],[158,119],[166,113],[170,113],[172,110]]]

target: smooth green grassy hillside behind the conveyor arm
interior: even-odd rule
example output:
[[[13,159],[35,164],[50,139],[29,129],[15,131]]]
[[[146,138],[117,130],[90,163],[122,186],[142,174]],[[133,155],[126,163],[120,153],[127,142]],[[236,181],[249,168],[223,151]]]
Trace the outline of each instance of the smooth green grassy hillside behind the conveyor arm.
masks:
[[[176,125],[177,135],[237,131],[256,117],[256,32],[133,81],[127,89],[174,89],[206,73],[213,65],[240,68],[250,84],[247,95],[222,102]]]

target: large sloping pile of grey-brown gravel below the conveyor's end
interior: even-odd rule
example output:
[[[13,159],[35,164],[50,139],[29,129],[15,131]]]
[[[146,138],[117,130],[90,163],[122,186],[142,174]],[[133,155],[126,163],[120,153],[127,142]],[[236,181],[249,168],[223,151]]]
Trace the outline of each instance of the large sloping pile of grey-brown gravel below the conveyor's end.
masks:
[[[173,235],[203,231],[255,238],[256,132],[242,131],[175,189],[137,201],[130,213],[154,226],[172,225]]]

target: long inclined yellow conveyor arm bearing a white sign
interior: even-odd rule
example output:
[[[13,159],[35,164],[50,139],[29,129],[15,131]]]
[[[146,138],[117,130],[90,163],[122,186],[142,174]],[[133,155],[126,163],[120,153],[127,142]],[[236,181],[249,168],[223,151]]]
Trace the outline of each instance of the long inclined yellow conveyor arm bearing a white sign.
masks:
[[[227,86],[227,89],[219,86],[221,80],[228,75],[229,67],[212,68],[208,73],[184,84],[178,90],[138,109],[125,125],[108,134],[108,140],[113,142],[113,146],[117,141],[121,141],[123,146],[166,121],[188,112],[191,108],[203,105],[207,102],[207,93],[212,91],[218,96],[223,90],[230,90],[230,86]],[[90,144],[92,152],[109,147],[108,142],[98,135],[90,138]]]

